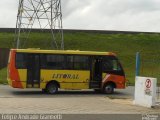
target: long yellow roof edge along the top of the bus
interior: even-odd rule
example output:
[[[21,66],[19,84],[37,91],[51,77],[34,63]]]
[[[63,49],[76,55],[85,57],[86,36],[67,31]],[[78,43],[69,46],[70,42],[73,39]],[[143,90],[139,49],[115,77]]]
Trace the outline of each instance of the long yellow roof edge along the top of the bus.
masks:
[[[21,53],[49,53],[49,54],[73,54],[73,55],[111,55],[113,52],[79,51],[79,50],[40,50],[40,49],[12,49]]]

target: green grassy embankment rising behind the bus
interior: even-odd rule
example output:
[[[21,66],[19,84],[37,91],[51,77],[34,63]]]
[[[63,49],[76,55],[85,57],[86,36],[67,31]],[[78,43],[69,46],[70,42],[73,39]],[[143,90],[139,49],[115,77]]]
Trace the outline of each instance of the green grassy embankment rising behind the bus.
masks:
[[[52,49],[48,40],[49,35],[49,33],[32,33],[30,40],[25,43],[25,48]],[[135,77],[136,52],[140,52],[144,60],[141,75],[160,77],[160,57],[158,56],[160,53],[160,34],[73,32],[64,33],[64,40],[65,49],[69,50],[111,51],[117,53],[126,72],[127,79],[132,84]],[[12,48],[14,44],[14,33],[1,32],[0,43],[0,48]],[[5,70],[2,71],[4,72]]]

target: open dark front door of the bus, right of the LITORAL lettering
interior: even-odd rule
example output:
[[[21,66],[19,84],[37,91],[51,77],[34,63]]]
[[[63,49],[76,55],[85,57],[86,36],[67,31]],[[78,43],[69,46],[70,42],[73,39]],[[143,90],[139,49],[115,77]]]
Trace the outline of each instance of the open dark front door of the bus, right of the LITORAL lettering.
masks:
[[[99,89],[102,83],[102,59],[95,58],[92,61],[90,88]]]

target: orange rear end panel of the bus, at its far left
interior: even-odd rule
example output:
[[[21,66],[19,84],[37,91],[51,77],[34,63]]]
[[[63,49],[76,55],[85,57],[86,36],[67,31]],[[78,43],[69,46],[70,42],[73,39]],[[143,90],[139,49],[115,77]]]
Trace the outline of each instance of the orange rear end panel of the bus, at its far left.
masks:
[[[19,72],[16,69],[16,50],[10,51],[10,60],[8,64],[8,83],[14,88],[23,88],[20,81]]]

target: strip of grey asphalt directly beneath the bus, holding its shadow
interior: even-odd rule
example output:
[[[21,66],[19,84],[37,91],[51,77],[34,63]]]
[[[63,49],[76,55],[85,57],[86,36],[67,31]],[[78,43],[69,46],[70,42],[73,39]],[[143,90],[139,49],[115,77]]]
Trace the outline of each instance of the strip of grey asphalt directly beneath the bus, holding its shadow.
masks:
[[[93,90],[59,90],[55,95],[43,93],[41,89],[17,89],[0,85],[0,98],[54,98],[54,97],[111,97],[112,99],[133,99],[134,87],[116,89],[114,94],[103,94]]]

